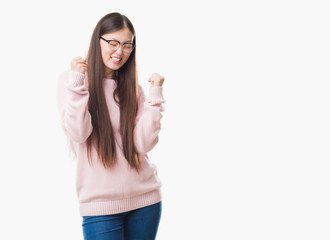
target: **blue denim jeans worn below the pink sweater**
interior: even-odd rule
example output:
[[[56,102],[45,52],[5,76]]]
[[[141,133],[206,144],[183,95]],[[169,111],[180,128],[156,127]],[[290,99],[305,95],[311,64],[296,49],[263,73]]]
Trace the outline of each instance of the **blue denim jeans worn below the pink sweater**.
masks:
[[[113,215],[83,217],[85,240],[154,240],[162,203]]]

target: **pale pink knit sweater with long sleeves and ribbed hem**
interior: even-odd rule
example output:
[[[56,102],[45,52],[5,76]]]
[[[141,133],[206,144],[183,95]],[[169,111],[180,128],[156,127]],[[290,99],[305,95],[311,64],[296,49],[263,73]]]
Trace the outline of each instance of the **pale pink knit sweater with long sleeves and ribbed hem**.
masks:
[[[104,91],[111,116],[117,149],[117,162],[105,169],[92,150],[92,164],[87,158],[86,140],[93,130],[88,112],[89,93],[84,74],[66,71],[59,78],[58,106],[65,134],[77,157],[76,188],[81,216],[115,214],[148,206],[161,200],[161,183],[156,167],[149,161],[149,152],[158,141],[163,111],[162,87],[151,87],[145,100],[139,86],[139,108],[134,129],[134,142],[142,155],[139,173],[130,168],[122,152],[119,133],[120,112],[113,99],[116,82],[104,79]]]

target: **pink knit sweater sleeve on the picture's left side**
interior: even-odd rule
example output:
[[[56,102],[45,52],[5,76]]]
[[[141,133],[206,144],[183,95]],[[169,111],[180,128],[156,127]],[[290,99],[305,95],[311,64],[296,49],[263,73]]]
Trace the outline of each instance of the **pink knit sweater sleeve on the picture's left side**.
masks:
[[[58,81],[57,102],[62,128],[77,143],[85,142],[93,130],[85,80],[82,73],[66,71]]]

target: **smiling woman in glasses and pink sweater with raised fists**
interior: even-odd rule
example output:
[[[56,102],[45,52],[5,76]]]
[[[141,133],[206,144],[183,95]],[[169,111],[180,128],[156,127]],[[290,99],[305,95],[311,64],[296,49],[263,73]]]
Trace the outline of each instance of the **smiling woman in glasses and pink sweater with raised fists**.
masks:
[[[96,25],[87,59],[59,78],[62,126],[77,157],[77,195],[86,240],[155,239],[161,183],[149,152],[158,141],[164,77],[149,98],[137,83],[136,36],[119,13]]]

